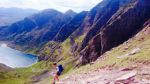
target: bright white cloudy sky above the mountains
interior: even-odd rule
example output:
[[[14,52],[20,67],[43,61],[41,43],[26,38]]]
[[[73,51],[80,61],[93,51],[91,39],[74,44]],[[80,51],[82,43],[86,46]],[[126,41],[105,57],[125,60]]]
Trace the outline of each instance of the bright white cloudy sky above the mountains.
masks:
[[[32,8],[43,10],[53,8],[61,12],[69,9],[75,12],[88,11],[101,0],[0,0],[0,7]]]

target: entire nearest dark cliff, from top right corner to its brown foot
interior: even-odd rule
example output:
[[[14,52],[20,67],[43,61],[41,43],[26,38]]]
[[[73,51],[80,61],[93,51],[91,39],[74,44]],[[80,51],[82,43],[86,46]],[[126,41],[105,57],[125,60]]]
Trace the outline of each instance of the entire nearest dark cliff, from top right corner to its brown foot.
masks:
[[[101,31],[90,41],[89,45],[80,53],[81,63],[86,64],[95,61],[101,54],[139,32],[142,25],[150,18],[149,4],[150,1],[148,0],[131,0],[127,4],[122,4],[110,20],[100,28]],[[97,48],[97,46],[100,48]]]

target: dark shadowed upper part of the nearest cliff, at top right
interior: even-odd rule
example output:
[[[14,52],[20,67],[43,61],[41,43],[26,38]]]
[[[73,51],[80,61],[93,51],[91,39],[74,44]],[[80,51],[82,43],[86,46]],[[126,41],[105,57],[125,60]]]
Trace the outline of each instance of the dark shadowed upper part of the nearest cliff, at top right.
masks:
[[[142,29],[150,18],[150,1],[139,0],[118,10],[101,32],[102,53],[115,47]],[[122,14],[123,13],[123,14]]]

